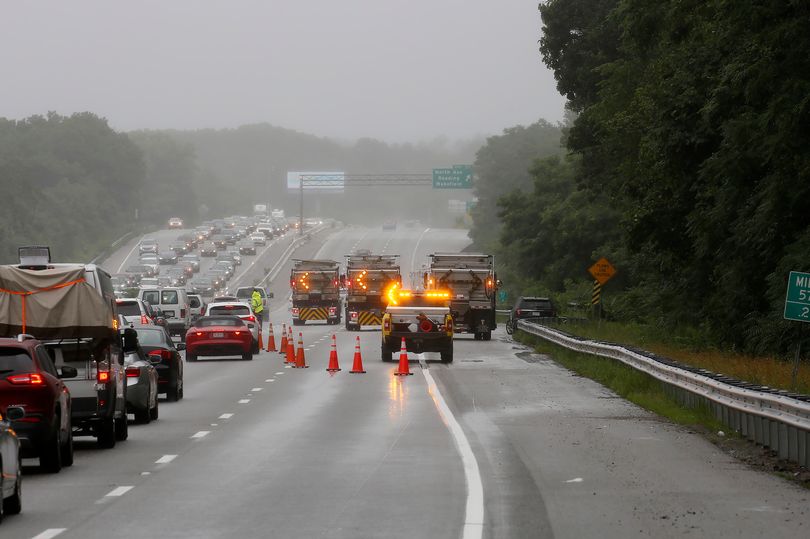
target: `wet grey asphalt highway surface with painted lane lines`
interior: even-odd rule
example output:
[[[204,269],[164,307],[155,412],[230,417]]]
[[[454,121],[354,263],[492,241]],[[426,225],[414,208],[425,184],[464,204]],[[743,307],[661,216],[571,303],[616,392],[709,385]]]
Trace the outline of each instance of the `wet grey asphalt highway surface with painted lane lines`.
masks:
[[[150,236],[168,243],[181,231]],[[251,285],[293,241],[237,271]],[[458,251],[466,231],[327,228],[294,258],[356,249]],[[137,240],[103,265],[137,259]],[[210,263],[203,259],[205,263]],[[269,287],[276,336],[289,318],[289,262]],[[30,537],[802,537],[807,491],[754,471],[688,428],[632,405],[515,343],[458,336],[455,362],[380,361],[379,331],[295,327],[308,369],[277,353],[186,364],[185,398],[130,425],[126,442],[77,438],[73,467],[26,461],[23,512],[0,525]],[[326,372],[332,334],[342,371]],[[267,332],[265,331],[265,335]],[[360,336],[365,374],[350,374]],[[802,531],[804,530],[804,531]]]

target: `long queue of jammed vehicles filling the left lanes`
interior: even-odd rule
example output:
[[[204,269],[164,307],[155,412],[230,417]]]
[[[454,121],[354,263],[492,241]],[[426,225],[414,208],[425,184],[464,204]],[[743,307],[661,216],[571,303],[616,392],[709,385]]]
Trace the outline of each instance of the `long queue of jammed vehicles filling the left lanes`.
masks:
[[[289,227],[260,217],[183,226],[170,220],[180,234],[168,249],[144,238],[138,263],[120,275],[95,264],[53,263],[41,246],[20,248],[19,264],[0,266],[0,288],[37,291],[25,296],[25,310],[23,295],[0,306],[0,521],[22,510],[30,459],[59,472],[73,464],[74,437],[112,448],[128,438],[131,422],[158,419],[160,396],[182,399],[186,347],[187,361],[252,359],[257,351],[254,287],[227,296],[224,286],[243,256]],[[261,242],[252,238],[258,234]],[[225,248],[219,244],[207,268],[195,251],[218,235],[226,236]],[[206,279],[203,289],[194,276]],[[265,290],[256,290],[266,304]]]

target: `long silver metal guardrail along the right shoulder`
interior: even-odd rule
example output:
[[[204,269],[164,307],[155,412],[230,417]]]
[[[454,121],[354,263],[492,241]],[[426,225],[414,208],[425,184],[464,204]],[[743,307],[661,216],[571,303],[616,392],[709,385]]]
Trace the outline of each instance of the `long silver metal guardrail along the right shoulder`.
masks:
[[[715,417],[780,458],[810,463],[810,400],[805,395],[746,384],[701,369],[686,369],[653,354],[567,335],[535,322],[518,321],[518,329],[586,354],[607,357],[659,380],[685,406],[707,407]]]

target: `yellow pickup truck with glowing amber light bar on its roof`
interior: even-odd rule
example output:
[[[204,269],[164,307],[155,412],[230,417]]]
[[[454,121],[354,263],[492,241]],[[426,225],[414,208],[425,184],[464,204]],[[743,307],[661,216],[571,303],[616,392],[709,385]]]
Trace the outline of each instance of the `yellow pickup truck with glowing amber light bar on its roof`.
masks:
[[[408,352],[439,352],[444,363],[453,361],[453,317],[450,293],[430,290],[392,290],[382,319],[382,360],[393,361],[402,338]]]

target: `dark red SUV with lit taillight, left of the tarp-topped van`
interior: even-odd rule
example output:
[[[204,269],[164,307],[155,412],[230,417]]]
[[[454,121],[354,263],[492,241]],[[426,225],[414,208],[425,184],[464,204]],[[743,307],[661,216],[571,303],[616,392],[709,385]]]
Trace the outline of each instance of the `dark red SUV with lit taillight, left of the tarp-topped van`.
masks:
[[[24,419],[11,422],[22,456],[38,457],[48,472],[73,464],[71,399],[62,376],[76,376],[76,369],[57,370],[42,343],[30,335],[0,339],[0,410],[25,410]]]

